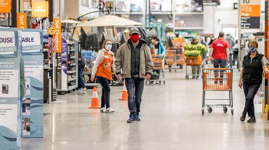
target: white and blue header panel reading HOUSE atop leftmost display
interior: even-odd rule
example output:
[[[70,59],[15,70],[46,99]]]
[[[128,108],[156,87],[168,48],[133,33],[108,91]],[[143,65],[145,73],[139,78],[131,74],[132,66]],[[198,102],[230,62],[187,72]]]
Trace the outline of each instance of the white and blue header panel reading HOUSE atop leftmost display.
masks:
[[[0,28],[0,58],[17,57],[18,31],[15,28]]]

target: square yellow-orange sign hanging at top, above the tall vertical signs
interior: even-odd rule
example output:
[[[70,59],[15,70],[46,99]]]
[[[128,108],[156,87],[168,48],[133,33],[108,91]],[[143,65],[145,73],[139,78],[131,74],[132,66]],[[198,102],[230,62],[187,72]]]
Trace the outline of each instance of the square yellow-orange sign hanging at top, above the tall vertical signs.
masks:
[[[32,1],[32,17],[48,17],[48,1]]]

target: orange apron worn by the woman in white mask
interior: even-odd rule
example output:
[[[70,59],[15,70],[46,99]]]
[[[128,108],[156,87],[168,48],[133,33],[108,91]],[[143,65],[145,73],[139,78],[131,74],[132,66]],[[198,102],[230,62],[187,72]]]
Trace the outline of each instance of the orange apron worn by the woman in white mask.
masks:
[[[98,66],[96,76],[102,76],[109,80],[112,80],[112,64],[113,64],[113,54],[110,54],[108,52],[104,52],[104,60],[103,62]]]

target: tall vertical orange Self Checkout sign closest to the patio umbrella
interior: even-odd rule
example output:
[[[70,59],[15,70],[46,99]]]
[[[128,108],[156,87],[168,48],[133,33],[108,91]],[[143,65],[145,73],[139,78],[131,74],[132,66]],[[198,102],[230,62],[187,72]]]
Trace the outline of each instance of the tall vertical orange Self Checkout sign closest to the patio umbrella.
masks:
[[[56,29],[53,38],[55,39],[56,53],[62,52],[62,26],[60,18],[53,18],[53,27]]]

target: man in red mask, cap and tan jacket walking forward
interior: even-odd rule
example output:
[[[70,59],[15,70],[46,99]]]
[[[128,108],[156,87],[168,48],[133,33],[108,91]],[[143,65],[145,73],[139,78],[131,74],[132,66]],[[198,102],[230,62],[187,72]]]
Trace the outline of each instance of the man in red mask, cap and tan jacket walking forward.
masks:
[[[115,65],[118,80],[121,80],[123,75],[126,81],[130,111],[127,123],[133,123],[140,121],[139,112],[144,79],[150,79],[153,62],[146,41],[139,38],[139,30],[131,28],[129,36],[130,39],[117,51]]]

